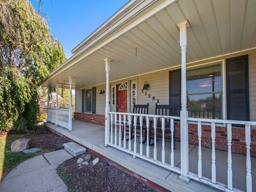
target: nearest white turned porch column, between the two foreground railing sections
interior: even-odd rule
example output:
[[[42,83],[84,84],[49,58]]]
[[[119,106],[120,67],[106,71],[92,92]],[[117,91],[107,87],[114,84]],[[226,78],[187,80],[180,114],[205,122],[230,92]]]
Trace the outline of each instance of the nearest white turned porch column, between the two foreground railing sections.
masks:
[[[181,47],[181,111],[180,111],[180,159],[181,179],[188,180],[188,124],[187,124],[187,75],[186,75],[186,48],[187,48],[187,27],[188,21],[178,25],[180,29]]]

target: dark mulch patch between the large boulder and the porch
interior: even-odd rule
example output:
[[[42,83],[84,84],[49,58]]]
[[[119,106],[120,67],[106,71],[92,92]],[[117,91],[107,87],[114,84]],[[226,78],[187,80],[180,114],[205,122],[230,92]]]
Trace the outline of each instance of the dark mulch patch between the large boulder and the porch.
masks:
[[[60,150],[64,148],[63,143],[71,141],[52,133],[45,126],[38,127],[27,139],[29,139],[29,148],[38,147],[42,150]]]

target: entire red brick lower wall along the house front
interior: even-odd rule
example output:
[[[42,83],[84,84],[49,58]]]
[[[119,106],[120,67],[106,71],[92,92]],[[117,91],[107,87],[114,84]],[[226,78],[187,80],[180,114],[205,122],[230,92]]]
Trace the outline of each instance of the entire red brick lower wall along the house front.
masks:
[[[75,113],[75,119],[97,125],[105,125],[105,115]],[[154,135],[154,134],[152,134]],[[215,128],[215,149],[228,150],[227,127],[216,126]],[[158,137],[162,138],[162,134],[158,133]],[[165,136],[170,138],[170,133]],[[189,144],[198,145],[197,124],[188,125]],[[202,146],[212,147],[211,126],[202,125]],[[180,141],[180,123],[175,123],[175,140]],[[232,128],[231,150],[233,153],[246,155],[245,129]],[[256,157],[256,130],[251,130],[251,156]]]

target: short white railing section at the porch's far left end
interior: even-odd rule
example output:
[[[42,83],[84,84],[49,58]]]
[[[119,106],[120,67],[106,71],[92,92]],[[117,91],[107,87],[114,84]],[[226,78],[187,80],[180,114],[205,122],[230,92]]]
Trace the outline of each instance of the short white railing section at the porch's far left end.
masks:
[[[69,109],[48,108],[47,121],[63,128],[69,129]]]

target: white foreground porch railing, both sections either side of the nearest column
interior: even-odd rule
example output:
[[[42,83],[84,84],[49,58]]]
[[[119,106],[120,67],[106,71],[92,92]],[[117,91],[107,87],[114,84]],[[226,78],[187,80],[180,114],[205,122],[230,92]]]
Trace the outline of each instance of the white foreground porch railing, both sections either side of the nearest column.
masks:
[[[159,116],[159,115],[142,115],[142,114],[131,114],[131,113],[116,113],[116,112],[109,112],[110,116],[110,127],[109,127],[109,142],[108,145],[119,150],[124,151],[125,153],[129,153],[133,155],[133,157],[139,157],[151,163],[157,164],[162,166],[166,169],[171,171],[181,173],[181,168],[174,165],[174,142],[173,142],[173,135],[174,135],[174,120],[180,119],[180,117],[173,117],[173,116]],[[162,151],[161,156],[157,157],[157,119],[161,118],[162,122]],[[120,119],[120,121],[119,121]],[[133,119],[133,121],[132,121]],[[170,156],[166,157],[165,152],[165,119],[170,119],[170,132],[171,132],[171,148],[169,151]],[[229,120],[219,120],[219,119],[203,119],[203,118],[188,118],[187,119],[189,124],[197,124],[198,130],[198,172],[192,173],[188,172],[187,177],[190,179],[197,180],[199,182],[203,182],[207,185],[212,187],[218,188],[223,191],[240,191],[233,187],[232,182],[232,158],[231,158],[231,141],[232,141],[232,124],[239,124],[245,126],[245,141],[246,141],[246,191],[252,191],[252,176],[251,176],[251,157],[250,157],[250,145],[251,145],[251,126],[256,125],[256,122],[242,122],[242,121],[229,121]],[[132,125],[133,122],[133,125]],[[150,123],[153,124],[151,131],[154,132],[154,150],[153,156],[150,157],[149,155],[149,127]],[[211,141],[212,141],[212,177],[206,178],[202,176],[202,149],[201,149],[201,137],[202,137],[202,124],[208,123],[211,126]],[[126,125],[128,130],[128,138],[126,138],[126,130],[123,129],[123,125]],[[227,125],[227,146],[228,146],[228,165],[227,165],[227,185],[218,181],[216,178],[216,164],[215,164],[215,126],[219,126],[219,124]],[[142,145],[142,133],[143,127],[145,127],[145,135],[147,136],[146,142],[146,152],[143,151]],[[134,139],[132,141],[131,137],[131,129],[134,130]],[[158,129],[159,131],[159,129]],[[139,133],[139,135],[137,135]],[[124,135],[124,139],[122,140],[122,136]],[[139,140],[137,141],[137,136]],[[158,135],[159,136],[159,135]],[[128,142],[126,141],[128,140]],[[126,142],[128,147],[126,146]],[[133,143],[132,143],[133,142]],[[137,146],[139,147],[137,149]],[[181,151],[182,153],[182,151]],[[166,158],[170,158],[170,164],[166,163]],[[181,165],[182,166],[182,165]],[[243,175],[241,175],[243,177]]]

